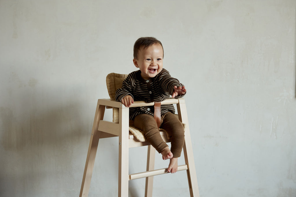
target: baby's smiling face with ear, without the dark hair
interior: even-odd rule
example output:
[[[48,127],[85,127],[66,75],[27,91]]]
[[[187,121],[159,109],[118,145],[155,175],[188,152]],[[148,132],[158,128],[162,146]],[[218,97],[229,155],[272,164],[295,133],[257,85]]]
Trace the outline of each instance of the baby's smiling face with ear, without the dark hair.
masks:
[[[133,63],[141,70],[143,79],[155,77],[163,69],[163,48],[160,44],[153,44],[147,48],[141,47],[138,59]]]

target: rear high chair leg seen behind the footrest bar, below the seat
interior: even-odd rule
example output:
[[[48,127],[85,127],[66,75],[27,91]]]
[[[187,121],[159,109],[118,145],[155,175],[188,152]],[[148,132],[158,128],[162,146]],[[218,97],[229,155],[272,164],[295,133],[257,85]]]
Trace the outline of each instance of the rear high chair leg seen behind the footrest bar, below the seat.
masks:
[[[155,148],[152,145],[148,146],[147,154],[147,169],[146,171],[154,170],[155,163]],[[146,177],[145,197],[152,197],[153,176]]]

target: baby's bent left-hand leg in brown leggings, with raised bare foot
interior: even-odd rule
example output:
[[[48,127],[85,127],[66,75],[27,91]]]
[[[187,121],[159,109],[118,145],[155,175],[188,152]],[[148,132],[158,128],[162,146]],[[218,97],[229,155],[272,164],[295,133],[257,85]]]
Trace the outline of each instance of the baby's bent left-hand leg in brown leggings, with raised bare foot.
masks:
[[[145,138],[157,150],[157,152],[163,155],[163,159],[170,159],[173,157],[168,145],[161,138],[157,123],[152,115],[137,115],[134,124],[136,128],[143,131]]]

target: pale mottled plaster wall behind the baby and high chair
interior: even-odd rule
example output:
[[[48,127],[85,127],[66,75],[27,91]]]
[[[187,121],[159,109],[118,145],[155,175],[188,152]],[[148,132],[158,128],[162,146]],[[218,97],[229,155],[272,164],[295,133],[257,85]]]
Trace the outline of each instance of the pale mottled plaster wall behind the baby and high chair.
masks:
[[[105,77],[136,70],[141,36],[162,41],[164,68],[188,90],[200,196],[296,196],[295,8],[0,0],[0,196],[79,195]],[[131,173],[145,170],[146,150],[130,150]],[[117,196],[117,158],[118,139],[101,140],[89,196]],[[129,192],[144,196],[144,179]],[[189,196],[186,173],[155,177],[153,193]]]

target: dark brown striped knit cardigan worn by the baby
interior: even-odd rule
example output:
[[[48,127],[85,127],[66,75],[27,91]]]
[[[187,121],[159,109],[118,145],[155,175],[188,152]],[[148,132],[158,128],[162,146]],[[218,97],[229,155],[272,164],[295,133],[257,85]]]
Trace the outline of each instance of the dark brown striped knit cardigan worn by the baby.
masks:
[[[170,98],[173,94],[174,86],[183,86],[178,79],[170,76],[170,73],[162,69],[159,74],[150,79],[143,79],[141,71],[134,71],[126,77],[122,83],[122,88],[116,90],[115,100],[121,102],[126,95],[131,95],[134,101],[159,102]],[[175,98],[181,98],[178,95]],[[175,113],[173,104],[161,105],[161,115],[172,112]],[[154,116],[154,106],[130,108],[129,119],[133,120],[139,114],[149,114]]]

